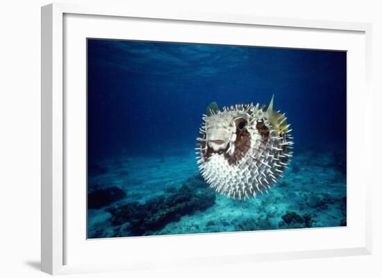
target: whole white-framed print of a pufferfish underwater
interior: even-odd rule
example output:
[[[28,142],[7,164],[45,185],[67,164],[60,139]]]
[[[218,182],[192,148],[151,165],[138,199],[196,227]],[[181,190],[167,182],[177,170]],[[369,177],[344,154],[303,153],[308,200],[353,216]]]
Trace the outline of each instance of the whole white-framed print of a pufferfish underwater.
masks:
[[[369,254],[370,40],[44,6],[42,270]]]

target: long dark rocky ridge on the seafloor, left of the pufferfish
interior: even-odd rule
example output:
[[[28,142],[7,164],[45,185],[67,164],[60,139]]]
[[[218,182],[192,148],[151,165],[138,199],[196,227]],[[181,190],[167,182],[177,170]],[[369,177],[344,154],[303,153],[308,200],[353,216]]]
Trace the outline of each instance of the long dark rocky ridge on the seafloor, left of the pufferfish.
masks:
[[[173,190],[172,190],[173,191]],[[142,236],[152,234],[182,216],[204,211],[215,205],[215,193],[198,177],[192,177],[175,192],[152,198],[140,204],[129,202],[118,207],[106,209],[114,226],[130,223],[115,236]]]

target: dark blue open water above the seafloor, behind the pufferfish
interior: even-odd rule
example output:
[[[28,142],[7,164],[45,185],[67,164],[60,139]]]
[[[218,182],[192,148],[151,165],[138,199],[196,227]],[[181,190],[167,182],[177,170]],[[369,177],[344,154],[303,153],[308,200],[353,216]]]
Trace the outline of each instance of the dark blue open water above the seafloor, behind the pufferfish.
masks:
[[[346,148],[346,53],[88,40],[88,155],[194,151],[216,101],[285,112],[295,148]]]

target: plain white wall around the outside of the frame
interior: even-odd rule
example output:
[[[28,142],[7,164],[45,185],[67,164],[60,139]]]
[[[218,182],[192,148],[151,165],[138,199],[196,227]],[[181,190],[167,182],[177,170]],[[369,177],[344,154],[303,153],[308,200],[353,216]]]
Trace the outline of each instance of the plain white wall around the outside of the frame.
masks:
[[[69,2],[69,1],[68,1]],[[94,1],[70,1],[86,3]],[[106,1],[105,1],[106,2]],[[373,24],[374,148],[381,134],[382,19],[379,1],[107,1],[148,9],[204,10],[276,17],[366,21]],[[152,2],[152,3],[151,3]],[[2,1],[0,10],[0,272],[1,277],[42,277],[40,263],[40,6],[42,0]],[[378,119],[377,119],[378,118]],[[376,157],[374,173],[379,173]],[[376,179],[379,175],[376,175]],[[381,277],[381,181],[374,183],[374,254],[231,265],[198,270],[160,270],[156,277]],[[90,277],[126,277],[126,273]],[[349,276],[348,276],[349,275]],[[138,273],[133,273],[133,277]],[[152,272],[143,272],[152,277]]]

